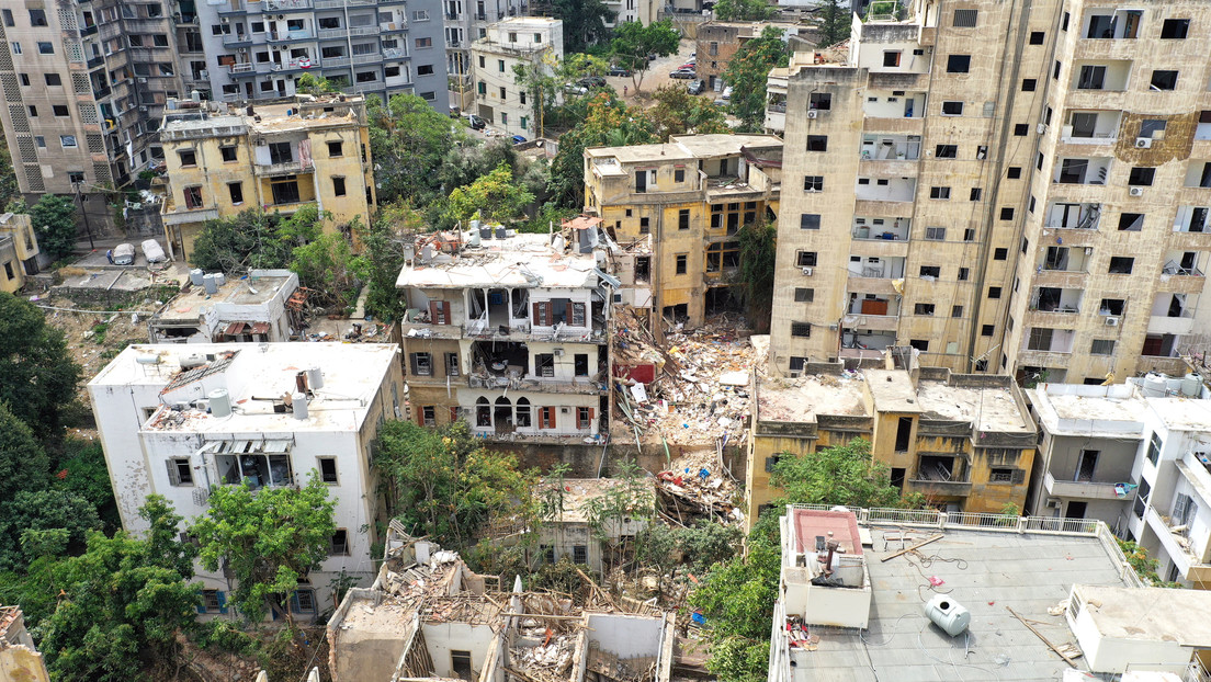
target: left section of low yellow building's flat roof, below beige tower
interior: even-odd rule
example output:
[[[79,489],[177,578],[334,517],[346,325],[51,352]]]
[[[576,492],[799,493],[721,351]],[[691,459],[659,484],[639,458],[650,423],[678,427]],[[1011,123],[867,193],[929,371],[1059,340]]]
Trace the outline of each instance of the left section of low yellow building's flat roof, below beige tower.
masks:
[[[757,377],[759,422],[815,422],[816,414],[869,417],[861,374],[813,374],[797,379]]]

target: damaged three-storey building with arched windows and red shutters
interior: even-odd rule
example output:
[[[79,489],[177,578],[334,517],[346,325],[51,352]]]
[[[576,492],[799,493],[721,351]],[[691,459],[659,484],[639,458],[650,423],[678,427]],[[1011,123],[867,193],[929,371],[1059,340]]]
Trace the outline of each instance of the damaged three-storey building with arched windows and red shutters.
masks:
[[[396,281],[412,418],[489,440],[596,442],[619,281],[596,220],[425,235]]]

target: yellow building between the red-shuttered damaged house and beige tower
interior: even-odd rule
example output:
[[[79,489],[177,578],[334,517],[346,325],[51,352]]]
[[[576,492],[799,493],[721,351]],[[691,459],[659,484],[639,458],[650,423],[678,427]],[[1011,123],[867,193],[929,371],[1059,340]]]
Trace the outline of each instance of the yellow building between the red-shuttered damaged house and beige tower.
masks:
[[[729,303],[741,225],[777,218],[782,141],[771,134],[673,136],[665,144],[585,150],[585,212],[619,242],[652,239],[653,308],[695,327]]]

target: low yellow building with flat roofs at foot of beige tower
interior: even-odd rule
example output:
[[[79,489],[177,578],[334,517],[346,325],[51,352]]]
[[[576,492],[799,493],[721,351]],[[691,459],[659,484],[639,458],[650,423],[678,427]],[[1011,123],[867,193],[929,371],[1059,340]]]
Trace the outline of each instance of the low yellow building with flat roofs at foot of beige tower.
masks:
[[[1037,429],[1010,377],[945,367],[843,372],[813,363],[804,377],[758,377],[745,478],[746,523],[780,494],[782,457],[866,439],[902,493],[943,511],[1023,509]]]

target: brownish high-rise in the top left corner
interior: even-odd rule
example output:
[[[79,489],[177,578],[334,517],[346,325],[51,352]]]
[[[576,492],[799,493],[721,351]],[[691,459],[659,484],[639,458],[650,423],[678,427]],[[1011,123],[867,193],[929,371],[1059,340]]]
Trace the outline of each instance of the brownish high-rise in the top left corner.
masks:
[[[168,7],[8,2],[0,24],[0,121],[21,193],[79,193],[91,228],[113,230],[110,190],[162,156],[151,133],[182,88]]]

